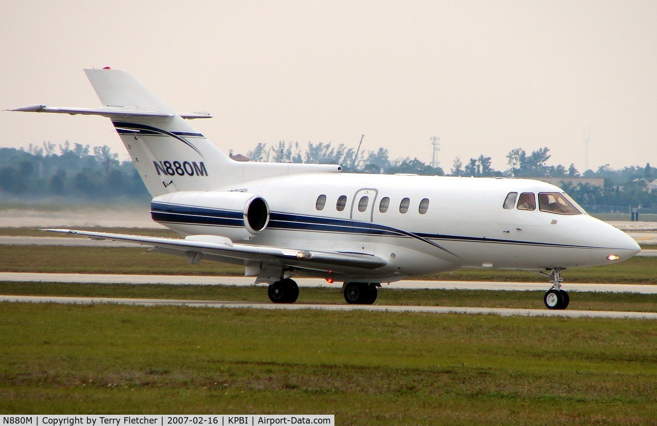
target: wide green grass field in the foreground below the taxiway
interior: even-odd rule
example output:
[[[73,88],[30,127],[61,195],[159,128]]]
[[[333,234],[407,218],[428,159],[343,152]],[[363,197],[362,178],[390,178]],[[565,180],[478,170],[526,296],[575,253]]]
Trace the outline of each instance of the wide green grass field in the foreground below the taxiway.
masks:
[[[651,423],[654,321],[0,304],[0,412]]]

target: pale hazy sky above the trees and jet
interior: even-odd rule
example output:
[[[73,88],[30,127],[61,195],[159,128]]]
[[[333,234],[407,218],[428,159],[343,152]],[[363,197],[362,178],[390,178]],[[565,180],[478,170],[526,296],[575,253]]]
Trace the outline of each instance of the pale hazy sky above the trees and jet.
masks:
[[[547,146],[550,164],[657,165],[657,2],[0,0],[0,109],[99,106],[128,70],[221,149],[384,147],[449,172]],[[125,149],[100,117],[0,112],[4,147]],[[127,154],[125,154],[127,159]]]

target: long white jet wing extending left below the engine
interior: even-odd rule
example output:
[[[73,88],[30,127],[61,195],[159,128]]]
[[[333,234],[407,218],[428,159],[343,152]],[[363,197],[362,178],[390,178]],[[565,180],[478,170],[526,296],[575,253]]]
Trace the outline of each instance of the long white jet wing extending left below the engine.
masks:
[[[371,254],[236,244],[226,237],[217,237],[215,235],[190,235],[185,239],[179,239],[75,231],[73,229],[39,229],[39,231],[66,233],[95,240],[124,241],[126,243],[166,248],[167,250],[179,250],[180,254],[187,254],[190,259],[196,258],[198,254],[210,254],[223,258],[260,261],[315,270],[334,269],[334,267],[340,266],[372,270],[386,265],[385,260]],[[200,257],[198,259],[200,260]]]

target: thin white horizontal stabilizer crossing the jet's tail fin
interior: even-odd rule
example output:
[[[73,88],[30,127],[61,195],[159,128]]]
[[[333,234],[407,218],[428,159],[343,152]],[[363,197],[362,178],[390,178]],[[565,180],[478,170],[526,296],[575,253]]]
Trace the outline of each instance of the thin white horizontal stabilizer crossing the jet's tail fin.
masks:
[[[102,108],[70,108],[68,106],[47,106],[43,104],[34,104],[13,108],[9,111],[18,112],[55,112],[57,114],[70,115],[97,115],[109,118],[125,117],[173,117],[175,114],[164,111],[142,110],[130,106],[104,106]],[[207,112],[183,112],[178,114],[182,118],[212,118]]]

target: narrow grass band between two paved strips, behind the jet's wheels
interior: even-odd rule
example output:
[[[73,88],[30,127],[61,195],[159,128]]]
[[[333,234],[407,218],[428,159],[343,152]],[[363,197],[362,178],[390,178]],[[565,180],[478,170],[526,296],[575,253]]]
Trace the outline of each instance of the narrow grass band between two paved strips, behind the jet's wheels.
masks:
[[[547,286],[546,286],[547,289]],[[302,287],[298,303],[344,304],[340,289]],[[545,309],[545,291],[378,289],[376,304]],[[229,285],[130,285],[0,282],[2,295],[164,298],[267,302],[267,287]],[[571,291],[571,310],[657,312],[657,295]]]

